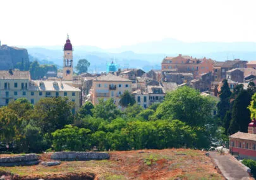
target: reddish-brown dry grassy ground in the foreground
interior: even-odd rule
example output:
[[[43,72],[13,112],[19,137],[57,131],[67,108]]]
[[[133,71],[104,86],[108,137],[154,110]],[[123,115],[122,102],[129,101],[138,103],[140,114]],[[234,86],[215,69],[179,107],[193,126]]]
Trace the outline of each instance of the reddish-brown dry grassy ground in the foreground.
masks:
[[[40,159],[49,161],[51,154]],[[205,152],[190,149],[110,152],[109,160],[61,162],[44,167],[0,167],[16,180],[52,179],[224,179]],[[0,155],[4,156],[4,155]],[[5,155],[6,156],[6,155]]]

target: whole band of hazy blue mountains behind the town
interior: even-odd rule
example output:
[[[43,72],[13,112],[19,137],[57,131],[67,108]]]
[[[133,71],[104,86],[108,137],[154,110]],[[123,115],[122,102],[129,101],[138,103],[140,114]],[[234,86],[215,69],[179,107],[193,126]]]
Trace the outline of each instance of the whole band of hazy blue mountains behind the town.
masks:
[[[241,59],[252,61],[256,59],[255,42],[182,42],[175,39],[145,42],[136,45],[125,45],[115,49],[101,49],[89,45],[73,44],[74,64],[79,59],[87,59],[90,63],[89,71],[106,71],[106,64],[114,61],[119,68],[161,69],[161,61],[166,56],[178,54],[197,58],[211,58],[216,61],[227,59]],[[28,53],[39,60],[53,61],[63,64],[63,47],[43,46],[27,47]]]

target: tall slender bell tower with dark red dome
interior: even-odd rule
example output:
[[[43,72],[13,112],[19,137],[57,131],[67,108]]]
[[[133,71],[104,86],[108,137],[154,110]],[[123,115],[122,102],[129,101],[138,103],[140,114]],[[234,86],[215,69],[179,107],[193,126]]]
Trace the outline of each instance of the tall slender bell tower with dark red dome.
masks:
[[[64,45],[64,56],[63,56],[63,80],[73,80],[73,47],[70,39],[66,40]]]

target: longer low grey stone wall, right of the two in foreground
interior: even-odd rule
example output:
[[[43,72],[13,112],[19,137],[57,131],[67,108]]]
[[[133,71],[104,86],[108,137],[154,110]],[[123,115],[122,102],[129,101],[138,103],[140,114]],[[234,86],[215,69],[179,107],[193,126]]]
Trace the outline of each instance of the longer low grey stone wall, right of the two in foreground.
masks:
[[[102,160],[109,159],[108,153],[103,152],[56,152],[51,155],[54,160]]]

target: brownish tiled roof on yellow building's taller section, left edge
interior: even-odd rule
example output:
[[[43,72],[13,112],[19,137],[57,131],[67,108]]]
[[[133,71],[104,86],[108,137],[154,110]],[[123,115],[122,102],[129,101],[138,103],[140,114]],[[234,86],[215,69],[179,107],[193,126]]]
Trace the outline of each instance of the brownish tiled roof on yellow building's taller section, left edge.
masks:
[[[6,80],[29,80],[30,73],[29,71],[0,71],[0,79]]]

